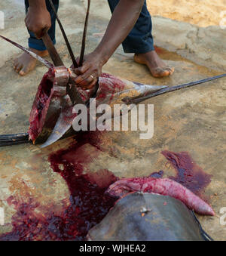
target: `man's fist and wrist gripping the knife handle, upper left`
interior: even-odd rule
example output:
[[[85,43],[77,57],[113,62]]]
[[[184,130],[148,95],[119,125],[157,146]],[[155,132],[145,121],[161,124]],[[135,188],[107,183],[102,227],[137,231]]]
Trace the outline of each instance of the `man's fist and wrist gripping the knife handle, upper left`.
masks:
[[[29,10],[25,18],[26,27],[40,39],[50,29],[51,18],[45,0],[29,0]]]

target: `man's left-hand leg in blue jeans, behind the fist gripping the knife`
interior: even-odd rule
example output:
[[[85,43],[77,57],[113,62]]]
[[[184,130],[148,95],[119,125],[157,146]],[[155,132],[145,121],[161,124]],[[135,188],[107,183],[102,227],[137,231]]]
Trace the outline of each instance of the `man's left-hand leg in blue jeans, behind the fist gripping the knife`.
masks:
[[[47,10],[50,12],[51,22],[52,22],[52,26],[49,29],[48,34],[50,35],[50,38],[55,44],[56,43],[56,39],[55,39],[56,17],[48,1],[46,1],[46,5],[47,5]],[[56,10],[58,10],[59,0],[53,0],[53,5],[55,6]],[[25,0],[25,6],[26,6],[26,12],[27,12],[29,8],[28,0]],[[30,35],[28,40],[29,49],[41,57],[47,56],[48,52],[44,46],[44,42],[42,42],[41,39],[36,39],[34,33],[30,31],[29,31],[29,35]],[[36,66],[36,60],[26,53],[21,54],[20,57],[14,60],[14,69],[17,72],[19,72],[20,76],[25,76],[29,71],[34,69],[35,66]]]

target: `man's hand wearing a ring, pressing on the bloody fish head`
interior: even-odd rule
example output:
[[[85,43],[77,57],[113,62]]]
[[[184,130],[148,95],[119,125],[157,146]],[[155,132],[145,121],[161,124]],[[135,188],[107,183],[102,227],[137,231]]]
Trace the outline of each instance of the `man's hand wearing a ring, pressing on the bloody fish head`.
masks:
[[[79,60],[77,60],[79,62]],[[93,51],[91,54],[87,54],[84,57],[84,63],[78,69],[75,69],[75,73],[78,77],[75,79],[75,83],[78,87],[83,90],[91,89],[96,82],[98,77],[102,73],[102,66],[105,62],[103,61],[100,54]]]

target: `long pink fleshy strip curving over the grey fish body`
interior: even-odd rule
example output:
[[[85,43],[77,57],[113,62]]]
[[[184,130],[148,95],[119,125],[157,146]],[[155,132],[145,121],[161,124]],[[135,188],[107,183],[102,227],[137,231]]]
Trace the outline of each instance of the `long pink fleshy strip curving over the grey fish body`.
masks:
[[[132,191],[171,196],[182,201],[188,208],[197,212],[197,214],[215,215],[211,206],[200,199],[199,196],[196,196],[191,190],[182,186],[182,184],[168,178],[124,178],[116,181],[115,184],[111,184],[108,190],[106,190],[106,193],[111,196],[121,197]]]

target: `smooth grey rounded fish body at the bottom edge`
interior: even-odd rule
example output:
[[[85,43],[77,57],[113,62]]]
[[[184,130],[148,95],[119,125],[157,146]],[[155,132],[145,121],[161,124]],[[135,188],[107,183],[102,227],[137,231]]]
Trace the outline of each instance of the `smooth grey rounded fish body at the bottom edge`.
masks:
[[[179,200],[153,193],[129,193],[87,234],[91,241],[212,240],[194,213]],[[124,252],[123,248],[120,251]]]

